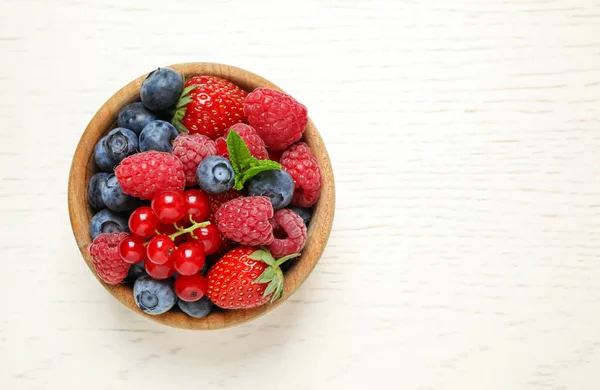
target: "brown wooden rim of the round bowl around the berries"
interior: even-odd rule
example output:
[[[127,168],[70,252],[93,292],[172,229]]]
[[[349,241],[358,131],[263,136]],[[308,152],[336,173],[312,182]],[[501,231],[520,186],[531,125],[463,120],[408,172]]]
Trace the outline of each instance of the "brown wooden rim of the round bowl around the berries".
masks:
[[[281,90],[270,81],[233,66],[212,63],[187,63],[169,67],[184,76],[213,75],[228,79],[248,92],[257,87]],[[281,299],[273,304],[249,310],[216,310],[207,317],[200,319],[189,317],[181,312],[168,312],[158,316],[146,314],[135,304],[130,286],[122,284],[109,285],[98,278],[88,250],[91,243],[89,225],[93,213],[86,200],[88,182],[96,171],[93,158],[94,146],[102,136],[116,127],[117,114],[121,108],[134,101],[139,101],[140,86],[146,76],[147,74],[130,82],[104,103],[85,129],[75,150],[69,174],[69,215],[73,234],[83,259],[98,281],[122,304],[161,324],[183,329],[220,329],[257,318],[283,303],[300,287],[319,261],[329,238],[335,208],[335,188],[331,162],[323,140],[317,128],[309,119],[304,133],[304,140],[317,156],[323,177],[323,189],[321,198],[314,207],[313,217],[308,229],[308,239],[302,251],[302,256],[293,260],[293,264],[285,273],[285,294]]]

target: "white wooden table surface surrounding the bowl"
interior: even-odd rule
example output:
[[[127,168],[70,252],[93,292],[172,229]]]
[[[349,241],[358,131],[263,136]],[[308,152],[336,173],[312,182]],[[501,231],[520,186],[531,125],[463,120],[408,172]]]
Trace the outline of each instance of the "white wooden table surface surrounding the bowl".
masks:
[[[0,389],[600,388],[600,2],[2,0]],[[309,108],[337,215],[287,303],[190,332],[75,246],[71,156],[155,67]]]

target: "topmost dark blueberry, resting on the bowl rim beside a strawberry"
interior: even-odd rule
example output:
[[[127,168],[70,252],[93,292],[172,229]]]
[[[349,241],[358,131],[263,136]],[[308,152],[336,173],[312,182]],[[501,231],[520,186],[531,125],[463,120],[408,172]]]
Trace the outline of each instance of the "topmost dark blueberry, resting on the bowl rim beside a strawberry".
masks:
[[[140,88],[142,103],[152,111],[173,107],[183,91],[183,76],[168,68],[150,73]]]

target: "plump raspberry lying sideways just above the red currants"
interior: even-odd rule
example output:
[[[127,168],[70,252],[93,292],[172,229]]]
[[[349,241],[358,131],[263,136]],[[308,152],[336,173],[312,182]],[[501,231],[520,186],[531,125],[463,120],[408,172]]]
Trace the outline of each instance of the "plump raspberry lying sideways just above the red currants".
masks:
[[[167,190],[183,192],[185,188],[183,164],[170,153],[134,154],[121,161],[115,175],[124,193],[142,199],[152,199]]]

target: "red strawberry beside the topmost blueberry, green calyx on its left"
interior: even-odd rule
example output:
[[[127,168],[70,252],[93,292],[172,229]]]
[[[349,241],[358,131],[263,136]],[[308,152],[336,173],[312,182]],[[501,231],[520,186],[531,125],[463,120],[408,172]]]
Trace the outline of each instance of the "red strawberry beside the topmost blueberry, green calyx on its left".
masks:
[[[247,95],[237,85],[218,77],[191,77],[177,103],[173,125],[182,133],[218,138],[243,120]]]

